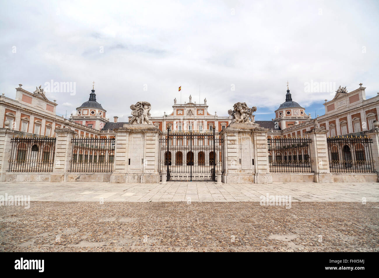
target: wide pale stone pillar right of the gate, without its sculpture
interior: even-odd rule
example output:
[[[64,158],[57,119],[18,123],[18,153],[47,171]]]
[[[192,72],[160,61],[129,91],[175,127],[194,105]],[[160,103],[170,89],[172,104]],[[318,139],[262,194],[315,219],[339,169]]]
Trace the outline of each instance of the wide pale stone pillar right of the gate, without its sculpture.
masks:
[[[272,183],[268,167],[268,129],[258,124],[231,123],[224,138],[225,183]]]

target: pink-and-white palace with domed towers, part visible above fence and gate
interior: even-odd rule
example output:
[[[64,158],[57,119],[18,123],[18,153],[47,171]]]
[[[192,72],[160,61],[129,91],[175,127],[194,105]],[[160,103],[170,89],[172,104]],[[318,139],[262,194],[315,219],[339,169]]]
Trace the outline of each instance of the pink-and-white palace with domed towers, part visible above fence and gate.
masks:
[[[360,134],[373,129],[373,123],[378,119],[379,93],[366,99],[365,89],[362,84],[351,92],[340,88],[332,100],[325,100],[325,114],[316,120],[319,127],[327,131],[327,137]],[[56,115],[57,105],[55,100],[47,99],[43,89],[28,92],[19,84],[16,99],[4,94],[0,96],[0,126],[50,137],[55,136],[55,129],[70,127],[80,138],[113,138],[113,130],[127,123],[118,122],[117,116],[114,116],[113,122],[106,118],[107,111],[97,102],[94,88],[88,101],[77,107],[77,112],[71,114],[69,119]],[[213,126],[216,132],[220,132],[229,126],[231,116],[218,116],[216,112],[210,113],[208,108],[207,99],[201,104],[192,102],[191,96],[188,102],[182,104],[174,99],[171,113],[161,117],[152,116],[150,121],[163,132],[168,126],[172,132],[199,133],[210,132]],[[269,138],[303,137],[306,131],[315,128],[310,113],[307,115],[305,108],[293,101],[288,88],[285,101],[274,114],[275,118],[271,121],[255,121],[254,115],[252,119],[269,129]]]

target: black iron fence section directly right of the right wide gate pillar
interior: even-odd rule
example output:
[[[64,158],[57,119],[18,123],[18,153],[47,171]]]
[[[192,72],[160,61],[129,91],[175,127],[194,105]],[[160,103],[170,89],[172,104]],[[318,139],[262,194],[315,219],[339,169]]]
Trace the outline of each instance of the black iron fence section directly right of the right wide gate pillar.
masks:
[[[270,172],[311,173],[309,138],[268,138]]]

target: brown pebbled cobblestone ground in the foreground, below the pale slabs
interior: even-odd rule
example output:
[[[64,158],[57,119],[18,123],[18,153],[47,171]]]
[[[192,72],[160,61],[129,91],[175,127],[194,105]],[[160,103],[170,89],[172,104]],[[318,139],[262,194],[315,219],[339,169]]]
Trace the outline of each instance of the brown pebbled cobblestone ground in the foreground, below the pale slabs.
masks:
[[[379,251],[379,203],[31,202],[0,207],[0,251]]]

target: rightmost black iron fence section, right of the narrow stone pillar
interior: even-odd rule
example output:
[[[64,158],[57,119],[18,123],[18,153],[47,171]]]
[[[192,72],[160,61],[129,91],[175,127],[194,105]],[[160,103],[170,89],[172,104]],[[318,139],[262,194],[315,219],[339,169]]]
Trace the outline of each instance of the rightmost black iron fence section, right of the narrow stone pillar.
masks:
[[[374,172],[372,142],[372,139],[362,135],[327,138],[330,172]]]

